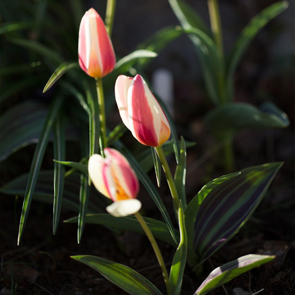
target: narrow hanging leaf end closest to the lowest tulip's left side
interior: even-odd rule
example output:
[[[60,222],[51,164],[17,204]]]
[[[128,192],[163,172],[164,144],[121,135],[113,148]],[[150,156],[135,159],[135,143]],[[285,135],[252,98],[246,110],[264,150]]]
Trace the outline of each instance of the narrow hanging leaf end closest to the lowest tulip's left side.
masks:
[[[89,202],[90,186],[88,185],[88,176],[81,174],[80,184],[80,209],[78,216],[78,244],[81,242],[83,229],[85,226],[85,217]]]

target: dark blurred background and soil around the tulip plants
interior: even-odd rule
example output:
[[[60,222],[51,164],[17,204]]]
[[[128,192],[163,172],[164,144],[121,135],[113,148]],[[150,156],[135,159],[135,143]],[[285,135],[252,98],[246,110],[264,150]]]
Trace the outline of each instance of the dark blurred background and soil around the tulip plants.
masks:
[[[194,7],[209,26],[207,1],[187,0],[187,3]],[[250,19],[272,3],[275,1],[219,1],[225,53],[229,53],[239,32]],[[270,294],[292,294],[292,288],[294,288],[292,287],[292,282],[294,283],[294,259],[292,257],[295,246],[295,7],[294,1],[290,1],[289,4],[289,8],[273,19],[251,42],[234,76],[235,101],[248,102],[255,106],[264,101],[272,101],[286,112],[290,120],[290,125],[286,129],[238,132],[234,140],[235,170],[273,161],[284,161],[285,164],[247,225],[227,244],[223,254],[216,254],[212,258],[213,263],[217,265],[228,261],[226,256],[234,259],[238,255],[243,255],[244,252],[245,254],[253,252],[254,249],[264,249],[264,251],[267,247],[271,248],[270,251],[276,249],[282,255],[281,265],[270,273],[264,270],[261,276],[259,275],[252,282],[253,289],[257,289],[263,283],[271,286],[269,290],[273,293]],[[47,57],[53,55],[53,59],[56,60],[77,60],[78,28],[83,13],[90,7],[94,7],[104,18],[106,1],[1,1],[1,117],[21,102],[32,101],[45,107],[49,105],[53,95],[58,91],[59,81],[50,91],[42,93],[45,84],[58,66],[58,62],[54,64],[52,59]],[[118,0],[112,34],[115,53],[118,58],[122,58],[137,49],[140,43],[161,28],[177,25],[179,25],[178,19],[168,1]],[[34,43],[27,44],[26,40]],[[36,51],[36,46],[39,51]],[[191,199],[205,183],[225,174],[219,154],[222,145],[210,135],[204,124],[205,114],[214,106],[204,86],[196,50],[186,35],[181,35],[168,43],[158,57],[150,60],[144,73],[149,81],[155,81],[159,70],[165,70],[165,77],[168,77],[169,85],[166,91],[172,96],[170,110],[175,118],[178,135],[183,135],[188,141],[196,142],[194,147],[188,149],[187,155],[186,193],[188,199]],[[161,89],[161,85],[156,86],[155,82],[152,84],[154,88]],[[116,105],[113,104],[112,90],[107,92],[106,97],[110,101],[107,121],[108,126],[112,129],[120,122],[120,117]],[[70,106],[65,112],[71,113]],[[15,116],[17,117],[17,114],[14,114]],[[13,122],[9,123],[13,124]],[[2,122],[0,127],[0,131],[3,132],[6,126]],[[21,126],[18,132],[22,132]],[[81,136],[79,130],[75,129],[71,132],[70,138],[72,139]],[[138,153],[142,148],[128,133],[123,139],[134,153]],[[7,137],[4,140],[7,140]],[[35,148],[33,142],[15,153],[8,151],[4,155],[1,162],[1,186],[29,172]],[[2,141],[1,149],[5,148],[7,147],[4,147]],[[77,140],[71,140],[66,147],[66,160],[79,161],[80,155],[81,148]],[[50,143],[45,153],[42,169],[52,169],[52,159],[53,147]],[[172,157],[171,165],[175,169],[173,160]],[[155,183],[154,171],[151,171],[149,175]],[[145,213],[150,217],[160,218],[154,204],[144,192],[144,188],[141,188],[141,191]],[[168,188],[164,182],[160,193],[167,207],[171,207]],[[146,246],[147,241],[142,237],[125,234],[120,239],[115,239],[102,227],[86,225],[83,240],[78,245],[76,226],[60,222],[58,232],[53,236],[52,206],[35,201],[32,202],[22,245],[17,248],[21,209],[22,198],[15,199],[14,196],[1,194],[0,250],[3,280],[0,294],[11,294],[9,293],[11,262],[15,265],[14,270],[18,270],[14,275],[14,282],[18,282],[17,294],[29,294],[28,290],[31,290],[30,294],[76,295],[122,292],[112,284],[106,283],[94,271],[69,261],[68,256],[73,254],[97,254],[127,264],[138,271],[143,269],[143,275],[146,275],[145,268],[148,268],[148,271],[154,271],[153,268],[149,268],[150,261],[154,259],[153,253]],[[170,210],[172,212],[172,208]],[[61,220],[73,215],[72,212],[64,211]],[[130,241],[130,235],[134,241],[132,245],[127,242]],[[169,254],[171,253],[170,246],[161,245],[161,247],[167,251],[165,258],[172,259]],[[242,249],[240,252],[237,250],[239,247]],[[224,255],[225,252],[228,252],[228,255]],[[210,266],[207,270],[210,272]],[[149,276],[155,284],[160,283],[156,273],[149,274]],[[184,278],[183,294],[192,294],[196,290],[198,283],[192,278],[193,276],[188,271]],[[233,280],[233,283],[230,282],[229,294],[232,294],[232,286],[244,288],[248,281],[249,278],[246,275]],[[216,293],[213,291],[212,294],[223,292],[222,289],[222,291],[218,290]]]

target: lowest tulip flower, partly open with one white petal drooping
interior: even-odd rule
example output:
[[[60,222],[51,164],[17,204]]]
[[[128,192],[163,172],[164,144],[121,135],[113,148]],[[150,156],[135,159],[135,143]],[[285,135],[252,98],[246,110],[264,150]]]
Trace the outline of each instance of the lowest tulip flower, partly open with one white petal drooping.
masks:
[[[112,199],[106,211],[115,217],[134,214],[141,208],[136,199],[139,191],[137,176],[127,159],[113,148],[104,149],[105,158],[94,154],[88,162],[88,173],[96,189]]]

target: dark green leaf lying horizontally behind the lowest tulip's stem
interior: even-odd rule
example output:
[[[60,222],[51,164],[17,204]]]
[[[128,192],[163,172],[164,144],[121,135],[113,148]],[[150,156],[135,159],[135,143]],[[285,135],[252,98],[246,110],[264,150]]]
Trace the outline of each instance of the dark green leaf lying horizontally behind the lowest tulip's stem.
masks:
[[[144,219],[156,239],[176,246],[176,243],[171,237],[171,233],[165,222],[161,222],[148,217],[144,217]],[[64,222],[76,223],[78,222],[78,217],[72,217],[70,219],[64,220]],[[130,230],[132,232],[137,232],[141,235],[145,235],[145,232],[143,231],[140,223],[132,215],[127,217],[114,217],[110,214],[86,214],[85,223],[107,225],[109,227],[114,227],[121,230]],[[177,232],[177,230],[175,230],[175,232],[177,240],[179,241],[179,233]]]

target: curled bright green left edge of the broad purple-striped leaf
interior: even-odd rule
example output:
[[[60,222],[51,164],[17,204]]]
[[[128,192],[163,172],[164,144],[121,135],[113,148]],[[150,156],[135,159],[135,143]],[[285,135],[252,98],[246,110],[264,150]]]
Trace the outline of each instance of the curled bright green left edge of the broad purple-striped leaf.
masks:
[[[236,177],[237,175],[240,175],[240,172],[227,174],[224,176],[220,176],[218,178],[213,179],[212,181],[205,184],[201,190],[194,196],[194,198],[189,202],[187,205],[185,211],[184,211],[184,219],[186,224],[186,232],[188,236],[188,244],[190,247],[193,247],[194,244],[194,227],[195,227],[195,220],[196,215],[199,211],[199,208],[203,202],[203,200],[206,198],[206,196],[209,194],[212,189],[217,189],[218,186],[223,183],[224,181]]]

